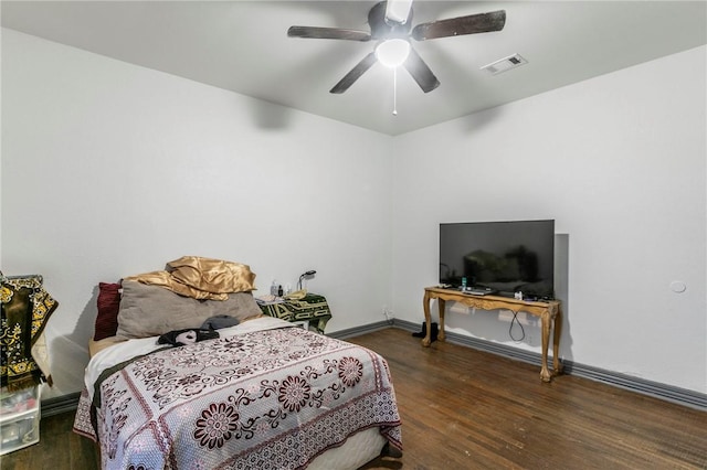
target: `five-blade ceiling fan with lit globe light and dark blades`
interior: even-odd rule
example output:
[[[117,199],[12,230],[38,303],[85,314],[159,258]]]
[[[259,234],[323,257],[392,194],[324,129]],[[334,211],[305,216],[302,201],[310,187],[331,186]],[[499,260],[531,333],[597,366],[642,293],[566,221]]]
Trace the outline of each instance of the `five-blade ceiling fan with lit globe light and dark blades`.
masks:
[[[506,11],[469,14],[447,20],[420,23],[412,28],[412,0],[388,0],[376,3],[368,12],[370,33],[340,28],[291,26],[289,38],[336,39],[346,41],[378,41],[376,50],[334,85],[329,93],[346,92],[377,61],[389,66],[402,65],[424,93],[440,86],[440,81],[428,64],[410,45],[410,38],[426,41],[437,38],[500,31],[506,23]],[[388,63],[387,50],[398,54],[394,63]]]

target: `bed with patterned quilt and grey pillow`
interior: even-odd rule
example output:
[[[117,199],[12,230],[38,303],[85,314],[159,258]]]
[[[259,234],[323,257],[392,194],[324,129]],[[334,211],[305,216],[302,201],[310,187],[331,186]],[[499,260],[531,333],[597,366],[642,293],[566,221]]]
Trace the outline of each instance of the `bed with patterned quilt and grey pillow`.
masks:
[[[116,334],[92,341],[74,421],[104,469],[356,469],[400,455],[390,371],[373,351],[263,316],[250,291],[122,290]],[[223,309],[238,324],[219,338],[158,344]]]

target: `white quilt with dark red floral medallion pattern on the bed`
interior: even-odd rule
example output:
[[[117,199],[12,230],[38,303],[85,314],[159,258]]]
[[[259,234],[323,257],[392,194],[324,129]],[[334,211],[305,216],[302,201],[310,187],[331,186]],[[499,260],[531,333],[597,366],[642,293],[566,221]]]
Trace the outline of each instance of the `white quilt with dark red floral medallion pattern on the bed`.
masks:
[[[402,448],[383,357],[299,328],[159,350],[103,375],[74,430],[97,438],[105,469],[299,469],[371,427]]]

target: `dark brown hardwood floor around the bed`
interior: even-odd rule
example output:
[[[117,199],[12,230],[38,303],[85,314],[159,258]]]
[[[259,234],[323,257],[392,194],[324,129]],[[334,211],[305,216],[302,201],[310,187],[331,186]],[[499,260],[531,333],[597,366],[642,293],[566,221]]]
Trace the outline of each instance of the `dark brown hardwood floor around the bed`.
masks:
[[[348,339],[378,351],[403,420],[401,459],[365,469],[706,469],[707,413],[399,329]],[[73,413],[42,419],[41,441],[2,469],[98,468]]]

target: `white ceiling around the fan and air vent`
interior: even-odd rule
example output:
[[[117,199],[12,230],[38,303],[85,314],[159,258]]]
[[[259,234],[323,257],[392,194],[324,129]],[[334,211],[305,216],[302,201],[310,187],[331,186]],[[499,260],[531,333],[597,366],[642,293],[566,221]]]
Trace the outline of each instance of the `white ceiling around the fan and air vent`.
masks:
[[[441,82],[373,65],[328,90],[373,42],[287,38],[296,25],[369,31],[376,1],[2,1],[2,25],[51,41],[399,135],[707,43],[705,1],[422,1],[412,25],[506,10],[503,31],[412,41]],[[518,53],[529,63],[479,67]],[[675,71],[676,74],[683,73]],[[707,85],[707,84],[706,84]]]

